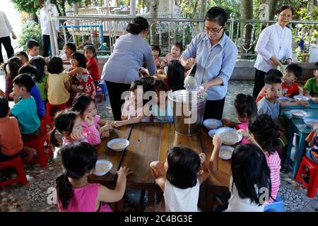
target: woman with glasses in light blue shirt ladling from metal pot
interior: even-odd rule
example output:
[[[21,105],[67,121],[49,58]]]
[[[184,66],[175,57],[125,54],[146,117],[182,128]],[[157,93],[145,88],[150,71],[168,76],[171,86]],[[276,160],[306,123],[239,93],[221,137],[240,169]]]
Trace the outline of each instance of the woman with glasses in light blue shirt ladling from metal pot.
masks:
[[[196,63],[194,78],[204,86],[201,93],[208,95],[204,119],[222,119],[228,81],[237,60],[237,47],[225,34],[227,20],[223,8],[210,8],[205,17],[205,32],[192,39],[180,58],[186,69]]]

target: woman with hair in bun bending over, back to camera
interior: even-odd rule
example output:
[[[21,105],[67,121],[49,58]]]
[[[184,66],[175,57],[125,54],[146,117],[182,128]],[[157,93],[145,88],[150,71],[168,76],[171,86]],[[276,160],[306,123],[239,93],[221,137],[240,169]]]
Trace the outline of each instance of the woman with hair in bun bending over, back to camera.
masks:
[[[149,74],[155,74],[155,61],[151,46],[146,42],[148,21],[139,16],[129,23],[126,35],[122,35],[113,46],[112,54],[102,69],[102,79],[106,81],[110,106],[115,121],[122,120],[121,107],[124,105],[122,93],[130,84],[139,80],[139,69],[146,64]]]

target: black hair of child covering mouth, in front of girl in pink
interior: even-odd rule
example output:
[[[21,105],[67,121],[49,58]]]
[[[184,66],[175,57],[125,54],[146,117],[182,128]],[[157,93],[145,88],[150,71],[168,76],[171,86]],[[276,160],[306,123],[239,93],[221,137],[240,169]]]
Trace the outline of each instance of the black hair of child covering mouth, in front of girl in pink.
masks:
[[[73,112],[69,109],[57,112],[56,116],[54,117],[54,129],[51,132],[51,144],[54,147],[59,147],[61,145],[59,141],[57,141],[55,133],[57,131],[59,131],[60,133],[66,131],[68,134],[71,134],[75,121],[78,117],[79,116],[76,112]]]

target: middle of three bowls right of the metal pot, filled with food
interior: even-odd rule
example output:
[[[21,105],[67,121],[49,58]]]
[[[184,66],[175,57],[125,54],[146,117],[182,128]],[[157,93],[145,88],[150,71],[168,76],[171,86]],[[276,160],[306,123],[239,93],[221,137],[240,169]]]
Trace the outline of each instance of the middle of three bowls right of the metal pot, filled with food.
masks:
[[[212,129],[208,131],[208,135],[213,137],[214,134],[217,134],[222,139],[222,143],[225,145],[235,145],[242,141],[242,134],[237,132],[236,129],[230,127],[221,127],[219,129]]]

